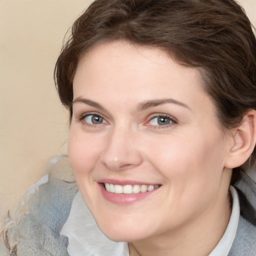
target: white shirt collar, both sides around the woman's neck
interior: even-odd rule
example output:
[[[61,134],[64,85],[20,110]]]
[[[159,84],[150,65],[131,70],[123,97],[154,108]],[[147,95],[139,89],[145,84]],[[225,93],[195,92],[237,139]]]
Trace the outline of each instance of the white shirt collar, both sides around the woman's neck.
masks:
[[[227,256],[235,237],[240,212],[239,199],[234,187],[230,186],[230,192],[233,199],[231,216],[225,233],[209,256]],[[68,237],[67,251],[70,256],[129,256],[127,242],[109,240],[100,231],[79,191],[60,234]]]

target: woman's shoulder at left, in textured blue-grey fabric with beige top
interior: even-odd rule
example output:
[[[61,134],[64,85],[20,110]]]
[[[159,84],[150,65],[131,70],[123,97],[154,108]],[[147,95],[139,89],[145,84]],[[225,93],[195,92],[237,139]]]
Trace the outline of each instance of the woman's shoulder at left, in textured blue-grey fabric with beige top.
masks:
[[[27,190],[14,216],[5,219],[1,232],[11,255],[68,255],[67,238],[59,232],[78,188],[68,157],[53,160],[49,173]]]

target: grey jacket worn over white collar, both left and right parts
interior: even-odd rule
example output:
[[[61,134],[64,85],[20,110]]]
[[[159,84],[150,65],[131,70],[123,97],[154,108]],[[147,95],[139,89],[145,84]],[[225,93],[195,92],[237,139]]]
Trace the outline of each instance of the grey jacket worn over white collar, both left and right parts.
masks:
[[[256,256],[256,184],[243,172],[235,187],[240,217],[228,256]],[[0,256],[68,256],[68,239],[59,232],[77,190],[65,157],[51,167],[48,181],[29,195],[14,217],[6,218],[1,231]]]

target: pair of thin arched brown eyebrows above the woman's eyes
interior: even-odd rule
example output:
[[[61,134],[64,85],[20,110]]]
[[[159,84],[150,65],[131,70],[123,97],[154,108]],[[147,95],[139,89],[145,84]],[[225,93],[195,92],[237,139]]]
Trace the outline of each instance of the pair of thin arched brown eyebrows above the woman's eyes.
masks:
[[[87,99],[87,98],[77,97],[77,98],[75,98],[73,100],[72,104],[74,104],[76,102],[81,102],[81,103],[84,103],[84,104],[96,107],[96,108],[98,108],[100,110],[106,111],[106,109],[102,105],[100,105],[99,103],[97,103],[97,102],[95,102],[93,100]],[[177,105],[180,105],[182,107],[185,107],[185,108],[188,108],[189,110],[191,110],[188,105],[186,105],[185,103],[180,102],[180,101],[178,101],[176,99],[173,99],[173,98],[162,98],[162,99],[146,100],[146,101],[143,101],[143,102],[139,103],[138,106],[137,106],[137,111],[143,111],[143,110],[145,110],[147,108],[158,106],[158,105],[162,105],[162,104],[165,104],[165,103],[177,104]]]

